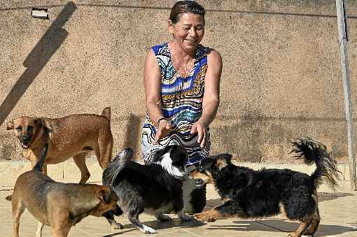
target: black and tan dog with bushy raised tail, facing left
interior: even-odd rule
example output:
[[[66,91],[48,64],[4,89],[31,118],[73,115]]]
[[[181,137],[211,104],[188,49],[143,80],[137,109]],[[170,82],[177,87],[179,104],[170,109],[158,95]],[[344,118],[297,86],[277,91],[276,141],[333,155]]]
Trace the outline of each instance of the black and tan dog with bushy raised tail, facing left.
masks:
[[[289,220],[299,221],[300,226],[291,237],[314,235],[320,222],[316,188],[322,180],[330,187],[337,187],[339,171],[335,159],[326,151],[325,145],[309,138],[293,142],[295,157],[304,158],[306,164],[316,164],[311,175],[290,169],[261,169],[235,166],[231,155],[223,154],[204,159],[191,178],[203,183],[214,183],[223,199],[218,206],[194,215],[197,220],[214,222],[220,217],[253,219],[283,213]]]

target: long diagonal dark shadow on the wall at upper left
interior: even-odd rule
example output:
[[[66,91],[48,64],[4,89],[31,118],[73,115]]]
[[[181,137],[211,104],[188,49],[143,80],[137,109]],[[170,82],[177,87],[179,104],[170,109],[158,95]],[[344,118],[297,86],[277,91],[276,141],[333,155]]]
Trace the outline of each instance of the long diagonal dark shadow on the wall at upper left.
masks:
[[[29,56],[25,59],[23,65],[27,68],[22,76],[15,83],[11,91],[6,96],[6,99],[0,106],[0,125],[6,120],[11,110],[16,106],[21,96],[25,94],[27,88],[34,81],[38,73],[45,67],[45,64],[50,60],[50,57],[55,54],[59,46],[63,43],[68,35],[68,32],[62,27],[76,10],[76,4],[73,2],[67,3],[59,13],[56,20],[51,24],[50,28],[45,32],[40,41]]]

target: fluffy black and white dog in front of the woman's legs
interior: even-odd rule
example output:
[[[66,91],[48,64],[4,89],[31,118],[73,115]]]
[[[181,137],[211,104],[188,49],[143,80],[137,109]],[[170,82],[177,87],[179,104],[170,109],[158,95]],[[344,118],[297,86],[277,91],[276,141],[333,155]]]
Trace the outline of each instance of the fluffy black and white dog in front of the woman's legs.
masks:
[[[109,186],[118,195],[118,205],[128,215],[132,224],[145,234],[157,233],[139,221],[141,213],[154,215],[158,220],[171,218],[162,210],[173,210],[181,221],[194,220],[183,212],[183,178],[187,176],[186,150],[179,145],[169,145],[159,150],[151,164],[133,161],[133,151],[127,148],[111,161],[103,173],[103,185]],[[104,216],[114,229],[123,225],[113,215],[123,212],[109,212]]]

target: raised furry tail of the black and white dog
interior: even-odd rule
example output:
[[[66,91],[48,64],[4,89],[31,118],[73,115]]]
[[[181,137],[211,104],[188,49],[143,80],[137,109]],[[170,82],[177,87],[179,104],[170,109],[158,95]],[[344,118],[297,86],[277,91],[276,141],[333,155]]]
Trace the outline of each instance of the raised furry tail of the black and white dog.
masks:
[[[127,166],[127,163],[133,159],[134,152],[131,148],[122,150],[113,161],[103,171],[102,182],[104,186],[113,187],[113,182],[118,177],[120,171]]]

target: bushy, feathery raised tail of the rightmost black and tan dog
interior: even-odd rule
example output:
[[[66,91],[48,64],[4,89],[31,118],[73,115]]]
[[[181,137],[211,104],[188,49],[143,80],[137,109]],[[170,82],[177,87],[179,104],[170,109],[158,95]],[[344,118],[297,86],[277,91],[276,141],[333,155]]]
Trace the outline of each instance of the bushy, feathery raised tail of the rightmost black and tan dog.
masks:
[[[310,138],[297,138],[293,143],[291,153],[297,159],[304,159],[305,164],[316,164],[316,170],[311,174],[314,187],[317,188],[325,180],[332,189],[338,187],[339,172],[337,161],[330,157],[326,146]]]

